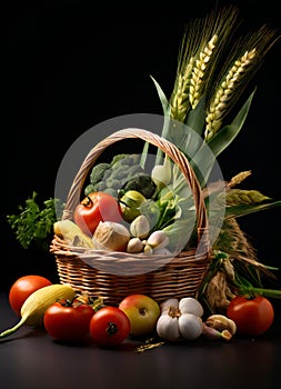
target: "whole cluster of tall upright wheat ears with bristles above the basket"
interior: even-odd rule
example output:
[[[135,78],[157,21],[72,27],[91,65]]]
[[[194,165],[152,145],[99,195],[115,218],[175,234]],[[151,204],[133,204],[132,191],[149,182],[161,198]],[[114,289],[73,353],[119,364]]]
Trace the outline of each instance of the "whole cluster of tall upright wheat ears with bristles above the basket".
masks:
[[[207,112],[205,141],[220,130],[265,53],[280,38],[277,30],[264,24],[237,39],[237,17],[235,7],[215,9],[203,19],[192,20],[181,42],[169,100],[171,119],[188,122],[190,111],[204,101],[199,114]]]

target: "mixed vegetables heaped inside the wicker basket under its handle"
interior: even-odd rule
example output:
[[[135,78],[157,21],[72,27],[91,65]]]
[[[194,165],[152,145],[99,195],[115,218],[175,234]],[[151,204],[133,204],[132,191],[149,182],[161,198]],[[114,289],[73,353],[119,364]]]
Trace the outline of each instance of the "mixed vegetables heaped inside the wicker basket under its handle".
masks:
[[[144,166],[141,168],[137,163],[137,169],[130,166],[134,173],[140,170],[140,176],[129,178],[129,181],[127,177],[122,180],[121,172],[126,173],[123,166],[127,168],[127,162],[122,161],[130,159],[138,162],[140,159],[139,156],[132,157],[134,156],[119,154],[113,158],[111,164],[107,163],[106,170],[103,162],[92,168],[91,183],[84,189],[84,199],[74,209],[73,223],[84,235],[91,237],[92,247],[96,249],[132,253],[158,253],[165,250],[170,253],[177,250],[179,235],[187,233],[188,213],[194,215],[191,208],[192,199],[185,199],[171,189],[173,172],[170,162],[165,162],[165,166],[154,166],[150,172],[144,171]],[[163,177],[163,169],[160,168],[164,169],[165,177]],[[98,182],[97,170],[99,171]],[[118,184],[113,192],[112,182],[116,174],[119,179],[116,180]],[[92,182],[96,182],[96,187]],[[90,191],[97,188],[98,183],[100,183],[98,188],[104,188],[104,191]],[[189,220],[192,220],[191,216]],[[179,226],[183,227],[184,221],[185,231],[182,232],[181,229],[180,233]],[[70,222],[68,223],[70,227]],[[56,230],[59,226],[61,222],[57,221]],[[77,227],[72,226],[72,228]],[[66,232],[62,235],[66,239]],[[76,236],[80,236],[80,242],[83,246],[81,233],[76,233],[72,238]],[[70,235],[67,240],[71,240],[68,238],[71,238]]]

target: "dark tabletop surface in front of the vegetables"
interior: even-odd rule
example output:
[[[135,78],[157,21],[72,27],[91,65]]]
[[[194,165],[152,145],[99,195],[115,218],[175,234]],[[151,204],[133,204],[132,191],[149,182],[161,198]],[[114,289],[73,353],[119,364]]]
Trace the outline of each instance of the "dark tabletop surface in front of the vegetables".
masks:
[[[0,293],[0,331],[18,318]],[[86,340],[54,342],[43,328],[21,327],[0,340],[0,377],[6,389],[16,388],[277,388],[281,352],[280,312],[272,327],[257,338],[229,342],[199,338],[180,345],[136,352],[140,341],[126,340],[101,349]],[[2,385],[1,385],[2,387]]]

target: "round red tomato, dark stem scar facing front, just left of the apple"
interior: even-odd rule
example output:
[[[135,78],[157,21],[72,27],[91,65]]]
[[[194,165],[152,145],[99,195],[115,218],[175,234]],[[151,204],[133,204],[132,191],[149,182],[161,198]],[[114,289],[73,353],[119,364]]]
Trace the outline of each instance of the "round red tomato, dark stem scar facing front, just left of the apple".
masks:
[[[90,322],[90,335],[101,347],[121,343],[130,335],[130,330],[129,318],[117,307],[99,309]]]

